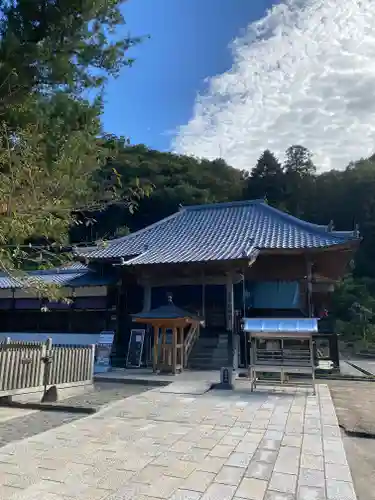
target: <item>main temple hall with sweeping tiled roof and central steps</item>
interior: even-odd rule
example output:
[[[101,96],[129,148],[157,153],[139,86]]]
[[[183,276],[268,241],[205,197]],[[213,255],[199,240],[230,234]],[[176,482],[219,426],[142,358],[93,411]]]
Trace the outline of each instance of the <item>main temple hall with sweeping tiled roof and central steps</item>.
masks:
[[[183,207],[77,258],[117,272],[119,365],[131,329],[139,328],[134,315],[165,305],[168,295],[176,307],[203,319],[195,338],[185,333],[183,342],[193,346],[186,366],[218,368],[232,355],[235,365],[248,363],[241,317],[324,316],[359,241],[356,231],[334,231],[331,224],[305,222],[253,200]],[[322,357],[333,356],[331,333],[317,339]],[[154,337],[146,337],[147,364]]]

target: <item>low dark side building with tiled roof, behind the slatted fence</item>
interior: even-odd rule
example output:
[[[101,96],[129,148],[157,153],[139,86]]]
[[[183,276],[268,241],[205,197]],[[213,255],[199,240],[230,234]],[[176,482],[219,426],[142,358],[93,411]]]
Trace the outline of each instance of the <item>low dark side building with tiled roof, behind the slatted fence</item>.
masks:
[[[30,279],[30,283],[28,280]],[[62,298],[50,302],[33,291],[32,283],[60,287]],[[79,262],[32,271],[22,277],[0,276],[0,341],[44,340],[56,344],[92,344],[103,330],[116,325],[117,276],[113,268],[92,268]]]

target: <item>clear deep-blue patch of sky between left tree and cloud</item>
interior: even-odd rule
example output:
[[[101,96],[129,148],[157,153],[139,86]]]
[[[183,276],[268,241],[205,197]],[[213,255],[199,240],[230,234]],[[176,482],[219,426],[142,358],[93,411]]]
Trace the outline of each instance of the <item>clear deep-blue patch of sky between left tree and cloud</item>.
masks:
[[[168,150],[193,114],[205,79],[232,65],[230,42],[276,0],[128,0],[125,31],[150,35],[107,90],[104,128],[132,143]]]

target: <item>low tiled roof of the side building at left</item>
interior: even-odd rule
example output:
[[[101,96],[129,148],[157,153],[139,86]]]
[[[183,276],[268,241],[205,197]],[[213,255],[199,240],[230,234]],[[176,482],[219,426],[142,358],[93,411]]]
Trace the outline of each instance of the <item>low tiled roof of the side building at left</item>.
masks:
[[[0,288],[27,287],[28,278],[30,278],[30,282],[40,280],[45,284],[68,287],[105,286],[116,281],[115,277],[112,275],[102,276],[83,264],[74,263],[69,266],[55,269],[31,271],[25,273],[22,278],[10,277],[2,274],[0,275]]]

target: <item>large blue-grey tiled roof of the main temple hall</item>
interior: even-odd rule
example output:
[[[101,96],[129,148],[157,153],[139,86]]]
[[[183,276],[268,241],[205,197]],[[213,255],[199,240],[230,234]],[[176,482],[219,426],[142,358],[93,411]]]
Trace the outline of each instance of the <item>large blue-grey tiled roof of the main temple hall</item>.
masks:
[[[323,248],[356,239],[302,221],[263,200],[182,208],[128,236],[112,240],[89,259],[124,258],[127,264],[235,260],[255,249]]]

